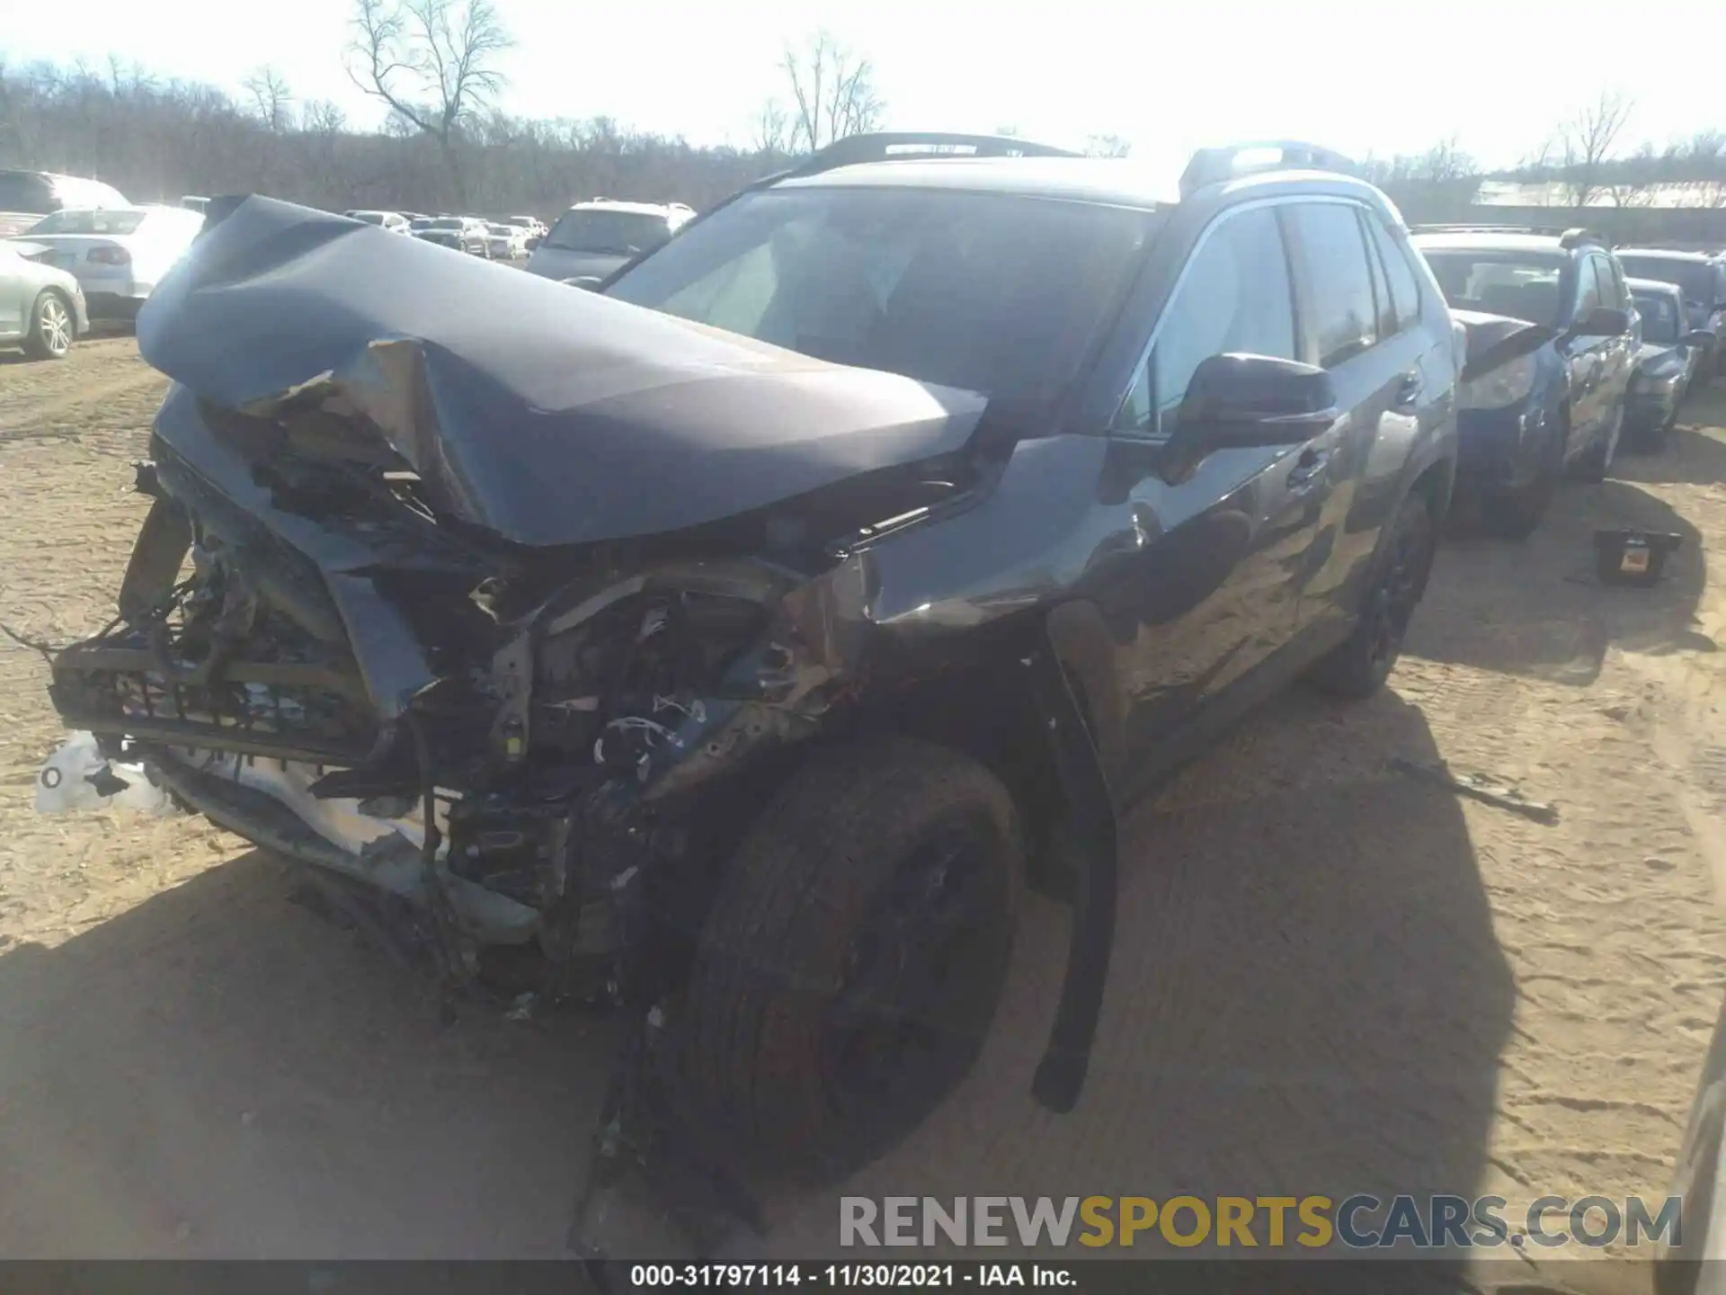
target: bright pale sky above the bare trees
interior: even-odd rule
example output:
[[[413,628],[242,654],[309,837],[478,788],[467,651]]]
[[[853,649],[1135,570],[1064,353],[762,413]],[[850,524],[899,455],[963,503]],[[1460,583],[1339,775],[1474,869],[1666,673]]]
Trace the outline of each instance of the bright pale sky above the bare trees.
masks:
[[[1362,157],[1457,136],[1486,166],[1512,166],[1603,90],[1635,100],[1626,142],[1726,128],[1719,0],[1664,0],[1645,10],[1647,26],[1597,0],[495,3],[516,40],[502,109],[609,116],[690,143],[746,145],[761,104],[784,95],[785,43],[820,28],[873,62],[889,128],[1013,126],[1070,147],[1118,135],[1134,157],[1174,169],[1194,147],[1263,138]],[[69,19],[57,5],[0,0],[0,55],[105,66],[117,54],[231,90],[273,64],[297,98],[330,98],[369,123],[378,111],[342,60],[350,5],[79,0]]]

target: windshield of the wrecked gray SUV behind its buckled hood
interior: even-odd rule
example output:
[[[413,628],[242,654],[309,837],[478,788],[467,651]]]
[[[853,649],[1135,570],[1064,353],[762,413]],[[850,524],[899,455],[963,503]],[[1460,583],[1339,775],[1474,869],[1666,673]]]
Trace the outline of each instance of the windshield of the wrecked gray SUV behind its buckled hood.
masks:
[[[932,188],[749,193],[608,294],[806,356],[1041,407],[1113,318],[1148,211]]]

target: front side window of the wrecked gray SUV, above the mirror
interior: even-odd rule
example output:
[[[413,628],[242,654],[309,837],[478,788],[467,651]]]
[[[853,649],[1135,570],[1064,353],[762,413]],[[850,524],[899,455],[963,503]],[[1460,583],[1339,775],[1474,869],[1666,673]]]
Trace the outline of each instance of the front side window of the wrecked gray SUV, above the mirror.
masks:
[[[1156,345],[1115,416],[1115,430],[1167,432],[1200,363],[1224,352],[1296,359],[1288,254],[1276,211],[1224,216],[1187,262],[1163,309]]]

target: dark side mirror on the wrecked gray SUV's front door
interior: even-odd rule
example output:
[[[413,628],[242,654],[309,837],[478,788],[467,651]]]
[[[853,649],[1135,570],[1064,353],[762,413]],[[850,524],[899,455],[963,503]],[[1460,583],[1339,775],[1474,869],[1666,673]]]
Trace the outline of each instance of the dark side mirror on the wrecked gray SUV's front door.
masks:
[[[1193,370],[1169,439],[1165,480],[1184,480],[1219,449],[1300,445],[1341,414],[1331,375],[1272,356],[1212,356]]]

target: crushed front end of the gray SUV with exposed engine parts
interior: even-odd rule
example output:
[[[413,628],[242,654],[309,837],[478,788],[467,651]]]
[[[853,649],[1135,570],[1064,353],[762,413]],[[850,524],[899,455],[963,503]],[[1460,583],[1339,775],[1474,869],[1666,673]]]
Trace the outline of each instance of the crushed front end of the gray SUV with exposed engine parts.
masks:
[[[121,618],[54,663],[66,723],[240,836],[394,896],[399,934],[447,944],[447,967],[661,993],[746,772],[818,732],[841,687],[842,566],[644,556],[625,575],[585,554],[557,587],[409,549],[406,508],[319,516],[319,566],[264,525],[304,497],[228,518],[169,494],[209,502],[173,452],[148,477]]]

